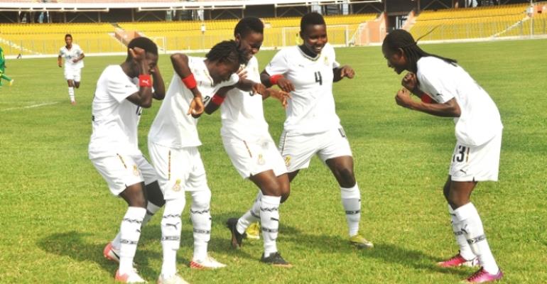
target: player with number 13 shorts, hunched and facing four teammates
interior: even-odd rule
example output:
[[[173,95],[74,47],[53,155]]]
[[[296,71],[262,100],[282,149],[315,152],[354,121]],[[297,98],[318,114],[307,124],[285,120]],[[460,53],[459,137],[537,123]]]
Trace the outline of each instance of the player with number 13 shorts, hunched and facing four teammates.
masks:
[[[409,71],[395,97],[401,107],[433,116],[453,117],[457,139],[443,192],[460,252],[442,267],[482,266],[465,281],[483,283],[503,277],[490,251],[482,221],[470,196],[477,182],[498,179],[502,120],[486,91],[455,60],[426,53],[404,30],[389,33],[382,45],[388,67]],[[411,99],[411,92],[421,102]]]

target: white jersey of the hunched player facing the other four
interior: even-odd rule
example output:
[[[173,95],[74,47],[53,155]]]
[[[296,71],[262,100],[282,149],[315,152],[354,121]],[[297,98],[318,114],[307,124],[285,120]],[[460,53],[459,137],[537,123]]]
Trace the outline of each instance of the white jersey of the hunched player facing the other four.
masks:
[[[428,56],[417,62],[418,82],[423,92],[441,104],[455,98],[461,115],[454,118],[457,141],[479,146],[503,129],[494,101],[459,65]]]

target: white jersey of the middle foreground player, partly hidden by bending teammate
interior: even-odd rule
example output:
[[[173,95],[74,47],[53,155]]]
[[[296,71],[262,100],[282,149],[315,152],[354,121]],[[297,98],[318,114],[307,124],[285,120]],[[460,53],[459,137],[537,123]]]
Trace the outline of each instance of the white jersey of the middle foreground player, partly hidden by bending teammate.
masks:
[[[259,62],[253,56],[245,67],[247,79],[260,82]],[[253,140],[269,136],[268,124],[264,119],[262,96],[241,89],[231,89],[220,107],[222,112],[222,136],[239,137],[243,140]]]

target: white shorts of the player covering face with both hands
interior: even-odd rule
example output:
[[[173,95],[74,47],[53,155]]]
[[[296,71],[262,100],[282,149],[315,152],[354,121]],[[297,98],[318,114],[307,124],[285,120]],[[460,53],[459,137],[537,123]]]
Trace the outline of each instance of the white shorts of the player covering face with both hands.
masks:
[[[107,181],[113,195],[119,195],[129,185],[141,182],[149,185],[158,180],[156,170],[142,155],[111,155],[91,162]]]

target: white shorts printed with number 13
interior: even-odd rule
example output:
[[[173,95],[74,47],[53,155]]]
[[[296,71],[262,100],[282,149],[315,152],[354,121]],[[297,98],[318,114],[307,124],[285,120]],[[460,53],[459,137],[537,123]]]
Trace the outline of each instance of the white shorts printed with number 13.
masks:
[[[455,182],[497,181],[499,152],[502,149],[502,132],[481,146],[456,143],[449,175]]]

